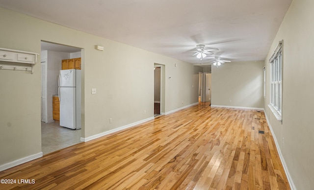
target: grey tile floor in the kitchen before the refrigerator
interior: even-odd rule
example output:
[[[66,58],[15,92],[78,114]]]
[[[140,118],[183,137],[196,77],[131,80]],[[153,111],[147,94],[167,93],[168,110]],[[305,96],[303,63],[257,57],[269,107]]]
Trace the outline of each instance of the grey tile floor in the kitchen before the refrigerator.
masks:
[[[81,130],[61,127],[59,123],[41,122],[41,149],[43,155],[80,143]]]

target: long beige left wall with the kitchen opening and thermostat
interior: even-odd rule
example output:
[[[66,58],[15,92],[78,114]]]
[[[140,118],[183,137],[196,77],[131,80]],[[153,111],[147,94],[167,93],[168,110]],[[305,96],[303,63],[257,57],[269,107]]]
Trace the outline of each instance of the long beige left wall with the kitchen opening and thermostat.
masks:
[[[0,25],[1,48],[40,53],[41,40],[83,48],[83,138],[153,117],[154,63],[165,65],[165,112],[197,102],[191,64],[3,8]],[[0,166],[41,152],[40,61],[34,70],[0,71]]]

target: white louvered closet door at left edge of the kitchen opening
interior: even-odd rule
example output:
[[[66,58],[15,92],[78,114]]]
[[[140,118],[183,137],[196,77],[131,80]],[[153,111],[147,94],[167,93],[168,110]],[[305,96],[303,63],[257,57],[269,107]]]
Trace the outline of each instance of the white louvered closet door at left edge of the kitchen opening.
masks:
[[[47,60],[41,60],[41,121],[47,123]]]

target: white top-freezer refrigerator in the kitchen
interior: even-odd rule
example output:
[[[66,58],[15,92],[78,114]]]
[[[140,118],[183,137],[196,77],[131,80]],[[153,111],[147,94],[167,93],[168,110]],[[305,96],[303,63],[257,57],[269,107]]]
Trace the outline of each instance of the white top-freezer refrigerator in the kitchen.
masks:
[[[81,128],[81,70],[60,70],[59,100],[60,126]]]

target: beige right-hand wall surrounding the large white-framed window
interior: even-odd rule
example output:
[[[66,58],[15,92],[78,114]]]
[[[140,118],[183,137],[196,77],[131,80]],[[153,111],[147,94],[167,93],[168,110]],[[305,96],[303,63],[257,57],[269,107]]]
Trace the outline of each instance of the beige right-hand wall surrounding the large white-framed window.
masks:
[[[265,61],[266,89],[269,89],[268,60],[278,42],[284,40],[282,124],[267,106],[268,90],[265,112],[298,190],[312,190],[314,187],[313,8],[313,0],[292,1]]]

